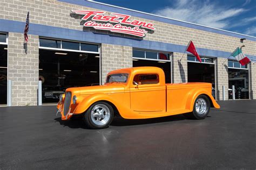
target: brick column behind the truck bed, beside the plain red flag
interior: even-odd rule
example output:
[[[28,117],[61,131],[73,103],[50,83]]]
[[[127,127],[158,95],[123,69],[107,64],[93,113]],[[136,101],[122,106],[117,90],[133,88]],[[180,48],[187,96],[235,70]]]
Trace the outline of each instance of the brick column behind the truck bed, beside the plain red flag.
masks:
[[[172,56],[172,82],[187,82],[187,54],[184,54],[181,62],[179,61],[183,53],[173,53]]]

